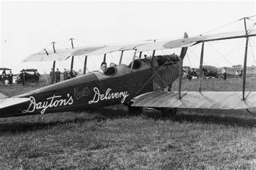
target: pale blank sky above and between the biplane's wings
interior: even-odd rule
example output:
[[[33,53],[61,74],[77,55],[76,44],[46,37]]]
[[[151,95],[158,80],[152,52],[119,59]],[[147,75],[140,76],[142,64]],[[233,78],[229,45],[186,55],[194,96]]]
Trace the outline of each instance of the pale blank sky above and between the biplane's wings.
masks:
[[[52,41],[56,42],[57,49],[71,47],[70,38],[75,38],[74,46],[88,46],[181,38],[184,32],[188,36],[197,36],[241,31],[244,30],[244,22],[236,21],[256,15],[255,9],[255,1],[1,0],[0,67],[11,68],[16,74],[23,68],[37,68],[39,73],[49,74],[52,62],[21,61],[46,47],[52,48]],[[253,26],[255,21],[256,17],[247,20],[247,28]],[[256,65],[255,42],[255,37],[250,38],[248,66]],[[190,47],[184,66],[199,67],[200,50],[200,44]],[[244,51],[245,39],[207,43],[204,65],[242,65]],[[179,52],[180,49],[172,49],[156,54]],[[129,55],[127,63],[130,62],[129,57],[132,58],[132,52]],[[110,54],[107,62],[117,62],[118,56]],[[98,69],[102,58],[89,58],[89,70]],[[83,69],[83,60],[84,56],[75,58],[75,70]],[[70,60],[56,62],[56,68],[60,71],[69,69]]]

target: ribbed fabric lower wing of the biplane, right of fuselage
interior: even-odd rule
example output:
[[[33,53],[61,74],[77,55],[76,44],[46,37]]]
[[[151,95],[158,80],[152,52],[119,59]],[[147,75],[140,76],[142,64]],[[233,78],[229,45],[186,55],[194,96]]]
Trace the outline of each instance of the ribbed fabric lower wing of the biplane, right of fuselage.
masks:
[[[181,92],[150,92],[134,97],[133,107],[150,108],[194,108],[194,109],[249,109],[256,107],[256,91],[252,91],[241,100],[241,91],[188,91]]]

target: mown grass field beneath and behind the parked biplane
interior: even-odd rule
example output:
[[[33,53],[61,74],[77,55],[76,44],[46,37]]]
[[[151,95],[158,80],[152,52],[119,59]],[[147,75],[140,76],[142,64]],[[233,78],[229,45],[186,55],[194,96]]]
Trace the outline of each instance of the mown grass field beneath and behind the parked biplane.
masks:
[[[248,77],[247,90],[256,89]],[[196,90],[198,80],[183,80]],[[241,91],[238,77],[203,80],[203,90]],[[14,96],[45,86],[0,87]],[[177,90],[177,81],[172,90]],[[246,111],[178,109],[130,116],[124,105],[0,119],[0,167],[256,168],[256,120]]]

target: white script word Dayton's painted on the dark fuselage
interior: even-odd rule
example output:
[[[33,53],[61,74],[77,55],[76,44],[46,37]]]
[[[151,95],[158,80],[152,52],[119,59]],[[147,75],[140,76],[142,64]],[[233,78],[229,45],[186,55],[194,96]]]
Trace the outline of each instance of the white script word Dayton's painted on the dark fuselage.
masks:
[[[55,96],[46,98],[43,102],[37,102],[35,97],[30,96],[30,104],[28,109],[22,110],[22,113],[34,112],[35,110],[41,110],[41,114],[44,114],[45,110],[48,108],[61,107],[65,105],[73,104],[73,98],[70,94],[67,94],[67,98],[62,98],[62,96]]]

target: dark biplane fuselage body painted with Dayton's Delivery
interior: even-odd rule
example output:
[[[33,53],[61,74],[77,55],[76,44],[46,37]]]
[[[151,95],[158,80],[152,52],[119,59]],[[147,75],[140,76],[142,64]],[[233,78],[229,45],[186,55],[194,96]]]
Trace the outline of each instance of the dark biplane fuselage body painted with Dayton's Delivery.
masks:
[[[121,64],[107,68],[105,74],[87,73],[14,96],[14,98],[30,98],[30,100],[4,108],[0,116],[48,114],[120,103],[128,104],[133,97],[162,90],[167,83],[176,80],[178,66],[178,60],[164,63],[147,58],[134,60],[133,69],[131,65]]]

